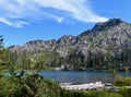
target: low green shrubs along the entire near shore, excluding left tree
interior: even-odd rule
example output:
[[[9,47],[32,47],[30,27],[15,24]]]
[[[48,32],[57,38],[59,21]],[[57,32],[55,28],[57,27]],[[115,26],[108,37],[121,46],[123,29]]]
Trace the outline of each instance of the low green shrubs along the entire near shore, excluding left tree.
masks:
[[[13,73],[11,73],[13,74]],[[131,82],[127,78],[116,81],[119,92],[104,90],[66,90],[58,83],[46,80],[37,73],[2,75],[0,76],[0,97],[130,97]],[[131,81],[131,78],[128,78]],[[122,83],[121,83],[122,82]]]

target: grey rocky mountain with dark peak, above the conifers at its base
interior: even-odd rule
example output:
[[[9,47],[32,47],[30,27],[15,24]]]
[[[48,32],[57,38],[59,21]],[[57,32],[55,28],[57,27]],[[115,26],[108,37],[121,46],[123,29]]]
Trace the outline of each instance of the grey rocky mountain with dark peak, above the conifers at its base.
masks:
[[[87,29],[78,36],[62,36],[58,40],[33,40],[24,44],[23,46],[12,46],[9,48],[11,51],[16,52],[58,52],[59,57],[66,58],[68,64],[72,65],[72,58],[81,58],[81,64],[91,65],[85,60],[90,60],[91,54],[94,57],[105,56],[105,60],[109,54],[115,57],[119,54],[127,54],[126,51],[131,51],[131,24],[121,21],[120,19],[111,19],[105,23],[97,23],[92,29]],[[72,56],[73,54],[73,56]],[[69,59],[69,57],[72,57]],[[82,57],[83,62],[82,62]],[[116,58],[117,59],[117,58]],[[126,58],[124,58],[126,59]],[[128,54],[127,60],[131,59]],[[73,60],[74,61],[74,60]],[[78,62],[79,63],[79,62]],[[124,63],[121,63],[123,65]]]

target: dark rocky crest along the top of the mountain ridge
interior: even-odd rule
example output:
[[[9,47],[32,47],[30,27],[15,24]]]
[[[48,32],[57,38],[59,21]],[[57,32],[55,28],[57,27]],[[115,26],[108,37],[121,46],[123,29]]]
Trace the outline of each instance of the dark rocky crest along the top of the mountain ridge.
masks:
[[[126,22],[123,22],[123,21],[121,21],[120,19],[111,19],[111,20],[109,20],[109,21],[107,21],[107,22],[100,22],[100,23],[96,23],[95,24],[95,26],[92,28],[92,29],[87,29],[87,31],[84,31],[83,33],[81,33],[80,35],[78,35],[78,36],[72,36],[72,35],[63,35],[63,36],[61,36],[59,39],[49,39],[49,40],[43,40],[43,39],[36,39],[36,40],[31,40],[31,41],[27,41],[27,43],[25,43],[24,45],[26,45],[26,44],[35,44],[35,43],[59,43],[60,40],[64,40],[66,41],[66,39],[68,40],[68,39],[70,39],[70,38],[75,38],[75,37],[79,37],[79,36],[82,36],[82,35],[87,35],[87,34],[90,34],[90,33],[94,33],[94,32],[103,32],[103,31],[105,31],[105,27],[111,27],[111,26],[116,26],[116,25],[118,25],[118,24],[120,24],[120,23],[126,23]],[[129,24],[129,23],[127,23],[127,24]],[[24,46],[24,45],[22,45],[22,46]],[[19,45],[17,45],[19,46]],[[12,47],[12,46],[10,46],[10,47]],[[10,48],[9,47],[9,48]],[[15,47],[15,46],[13,46],[13,47]],[[20,47],[20,46],[19,46]]]

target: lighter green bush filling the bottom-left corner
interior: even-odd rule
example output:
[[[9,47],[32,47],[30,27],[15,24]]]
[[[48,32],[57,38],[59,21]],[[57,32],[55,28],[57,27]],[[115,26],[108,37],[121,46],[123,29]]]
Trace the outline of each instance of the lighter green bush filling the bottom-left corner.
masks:
[[[0,77],[0,97],[20,97],[21,85],[17,78],[3,76]]]

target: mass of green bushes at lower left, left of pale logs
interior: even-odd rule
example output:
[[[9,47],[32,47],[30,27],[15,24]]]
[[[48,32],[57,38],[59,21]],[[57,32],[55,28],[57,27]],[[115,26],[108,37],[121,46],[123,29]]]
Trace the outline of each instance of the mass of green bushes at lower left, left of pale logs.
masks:
[[[59,97],[59,85],[38,74],[0,77],[0,97]]]

